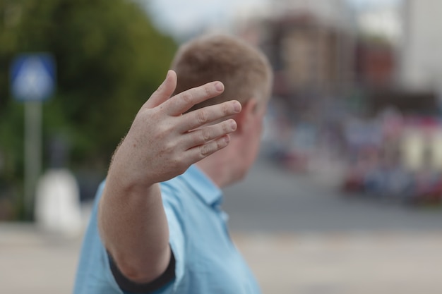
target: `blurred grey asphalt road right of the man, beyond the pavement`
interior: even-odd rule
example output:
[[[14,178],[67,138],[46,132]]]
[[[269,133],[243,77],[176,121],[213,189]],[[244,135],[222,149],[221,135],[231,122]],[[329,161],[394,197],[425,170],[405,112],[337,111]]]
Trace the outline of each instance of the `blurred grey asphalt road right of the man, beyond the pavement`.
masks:
[[[234,231],[439,231],[441,209],[345,197],[334,186],[260,159],[244,182],[225,189]]]

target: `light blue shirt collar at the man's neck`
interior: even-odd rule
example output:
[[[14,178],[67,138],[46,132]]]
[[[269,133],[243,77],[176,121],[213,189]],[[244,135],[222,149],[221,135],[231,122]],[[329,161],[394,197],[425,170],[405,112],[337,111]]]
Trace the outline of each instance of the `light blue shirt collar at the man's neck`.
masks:
[[[205,204],[211,207],[216,207],[221,204],[221,189],[218,188],[217,185],[215,185],[215,183],[213,183],[213,181],[201,171],[201,169],[198,169],[198,167],[193,164],[193,166],[187,169],[185,174],[189,183],[198,183],[197,185],[190,185],[190,187]]]

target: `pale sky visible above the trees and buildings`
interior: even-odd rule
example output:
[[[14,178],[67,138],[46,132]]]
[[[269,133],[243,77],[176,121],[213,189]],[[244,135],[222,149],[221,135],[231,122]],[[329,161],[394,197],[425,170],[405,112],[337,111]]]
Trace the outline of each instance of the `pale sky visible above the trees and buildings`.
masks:
[[[258,13],[275,0],[138,0],[154,22],[179,37],[200,27],[227,27],[235,16]],[[309,0],[306,0],[309,1]],[[328,0],[322,0],[328,1]],[[347,0],[355,8],[398,4],[401,0]]]

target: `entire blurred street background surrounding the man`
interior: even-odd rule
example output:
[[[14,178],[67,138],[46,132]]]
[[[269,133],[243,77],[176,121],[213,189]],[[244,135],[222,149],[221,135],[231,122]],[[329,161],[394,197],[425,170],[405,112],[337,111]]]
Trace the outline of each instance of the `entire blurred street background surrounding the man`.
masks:
[[[441,293],[441,15],[438,0],[0,0],[0,293],[71,292],[114,148],[207,32],[275,74],[261,155],[223,204],[263,293]]]

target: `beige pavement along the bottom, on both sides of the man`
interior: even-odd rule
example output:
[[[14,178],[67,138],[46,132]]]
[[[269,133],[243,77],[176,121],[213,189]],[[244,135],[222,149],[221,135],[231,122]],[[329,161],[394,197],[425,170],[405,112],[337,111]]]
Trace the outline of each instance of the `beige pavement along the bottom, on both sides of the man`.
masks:
[[[442,293],[442,231],[232,233],[264,294]],[[0,223],[0,293],[71,293],[81,237]]]

